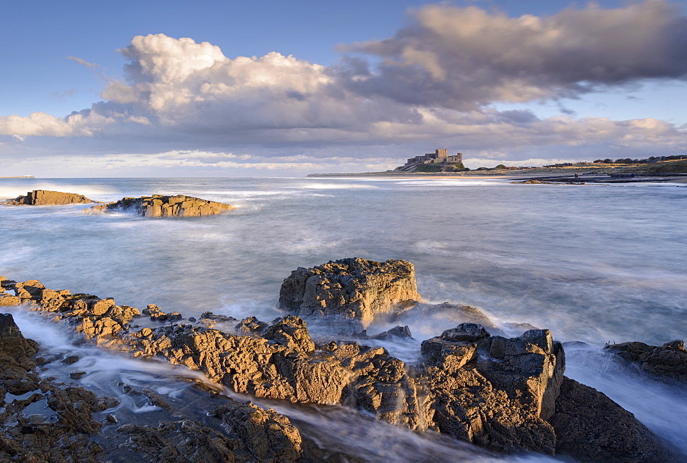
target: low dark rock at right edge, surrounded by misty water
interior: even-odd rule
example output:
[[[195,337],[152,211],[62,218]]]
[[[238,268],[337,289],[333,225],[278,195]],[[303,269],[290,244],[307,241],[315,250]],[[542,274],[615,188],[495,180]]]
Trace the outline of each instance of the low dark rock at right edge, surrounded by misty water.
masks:
[[[605,349],[657,378],[687,385],[687,350],[680,339],[660,347],[635,342],[608,345]]]

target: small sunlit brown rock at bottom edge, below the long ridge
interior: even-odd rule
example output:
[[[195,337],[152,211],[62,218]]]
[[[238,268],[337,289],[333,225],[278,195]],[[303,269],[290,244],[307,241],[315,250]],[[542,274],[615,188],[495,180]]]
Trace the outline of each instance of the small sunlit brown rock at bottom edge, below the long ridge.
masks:
[[[218,407],[212,412],[222,418],[224,429],[244,442],[259,462],[296,462],[302,455],[301,437],[289,418],[251,402]]]

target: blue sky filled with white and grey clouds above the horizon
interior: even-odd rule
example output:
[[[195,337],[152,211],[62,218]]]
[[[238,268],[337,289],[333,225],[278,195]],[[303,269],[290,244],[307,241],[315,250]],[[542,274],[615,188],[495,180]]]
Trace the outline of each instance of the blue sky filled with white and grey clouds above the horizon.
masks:
[[[687,155],[687,1],[0,4],[0,177]]]

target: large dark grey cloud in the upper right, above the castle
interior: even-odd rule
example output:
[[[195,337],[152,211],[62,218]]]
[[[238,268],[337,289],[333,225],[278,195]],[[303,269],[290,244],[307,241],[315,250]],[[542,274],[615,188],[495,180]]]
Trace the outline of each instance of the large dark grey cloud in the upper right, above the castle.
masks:
[[[382,60],[374,70],[360,62],[339,70],[361,94],[473,109],[684,79],[687,20],[662,0],[517,18],[442,3],[418,10],[414,23],[389,39],[343,50]]]

